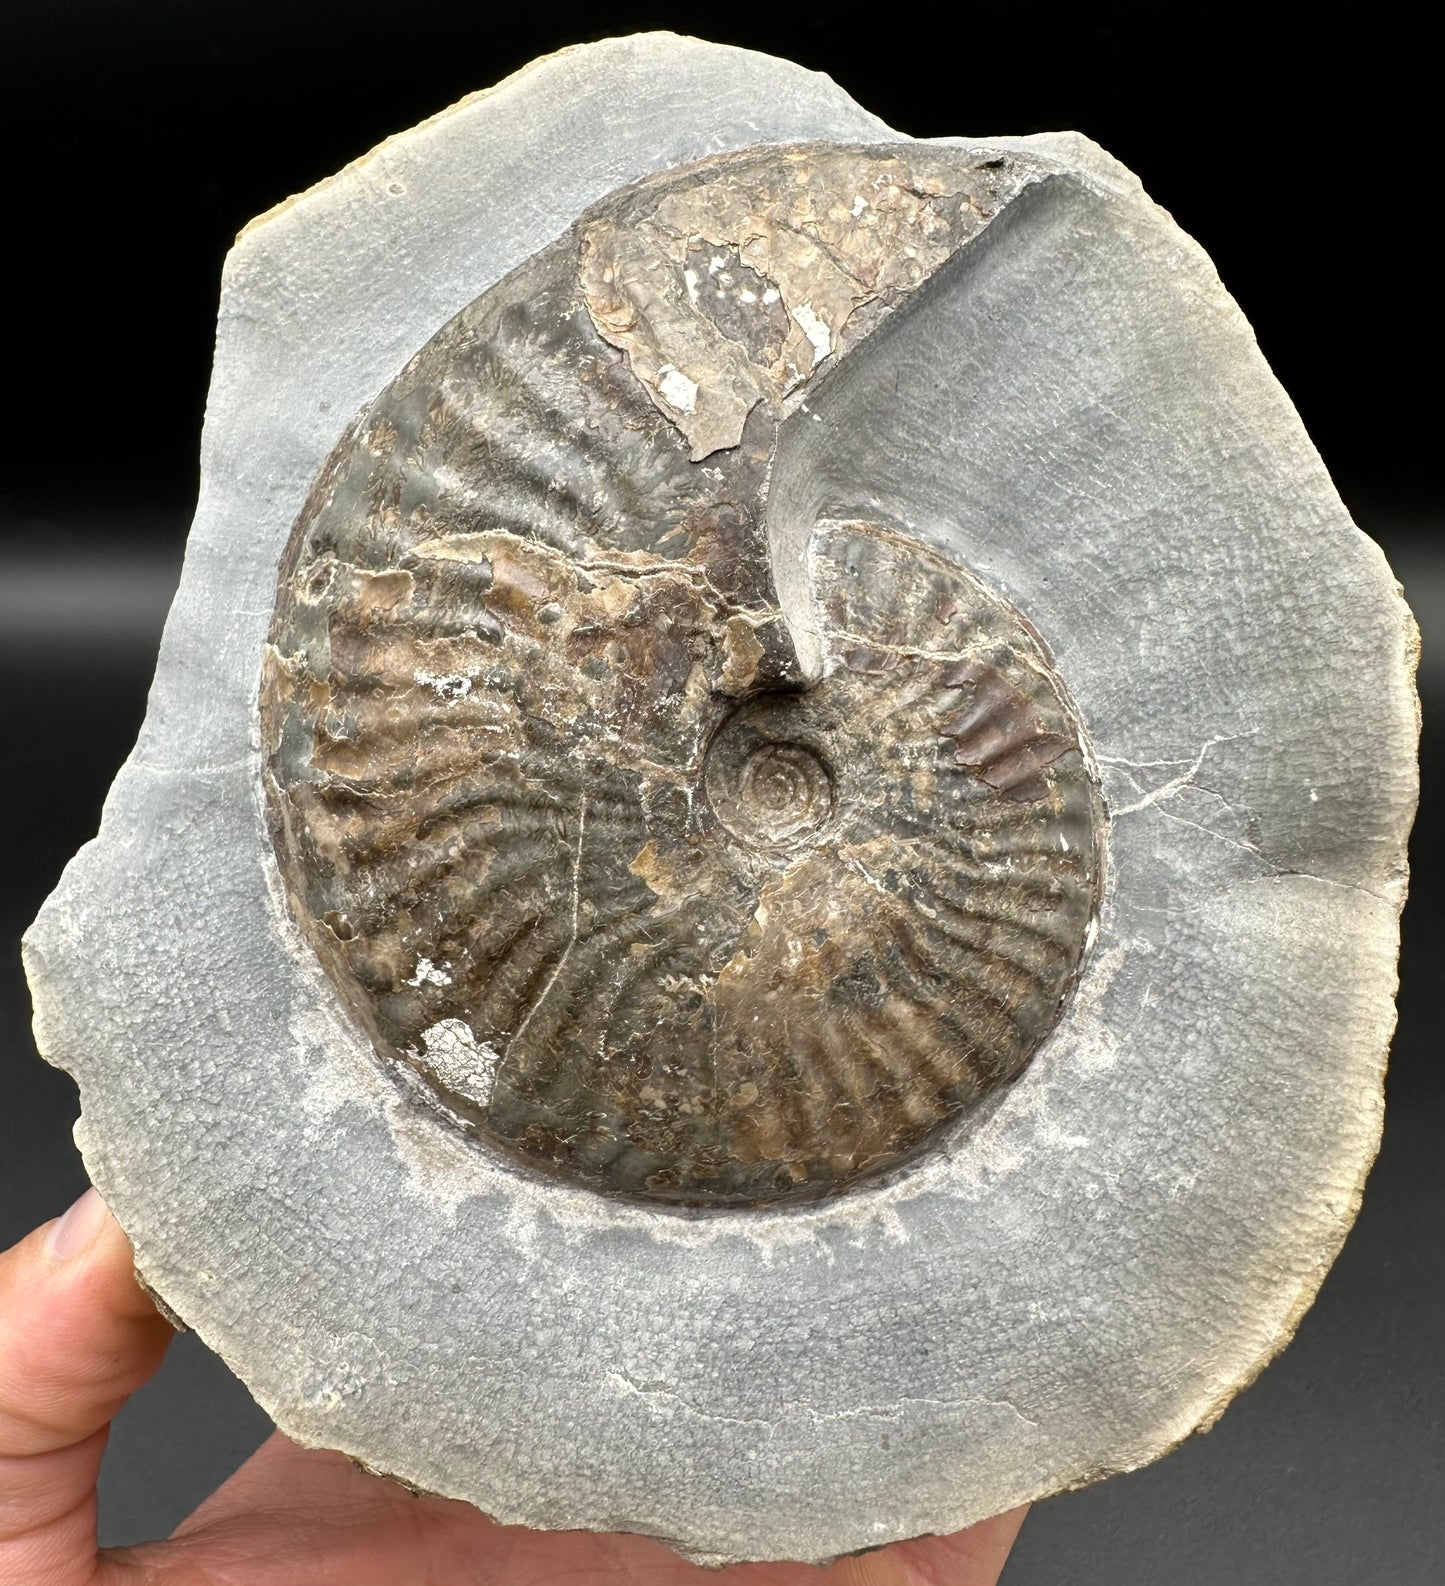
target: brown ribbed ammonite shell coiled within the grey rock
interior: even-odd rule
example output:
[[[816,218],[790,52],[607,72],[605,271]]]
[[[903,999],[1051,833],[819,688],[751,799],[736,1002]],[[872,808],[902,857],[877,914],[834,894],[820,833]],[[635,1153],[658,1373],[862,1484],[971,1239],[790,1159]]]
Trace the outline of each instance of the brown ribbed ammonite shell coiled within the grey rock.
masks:
[[[290,904],[378,1053],[523,1163],[826,1194],[1060,1015],[1099,817],[1042,642],[842,514],[804,642],[766,520],[780,425],[987,224],[998,163],[768,151],[625,189],[308,500],[262,682]]]

